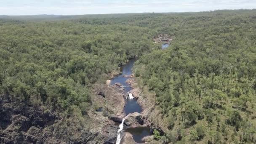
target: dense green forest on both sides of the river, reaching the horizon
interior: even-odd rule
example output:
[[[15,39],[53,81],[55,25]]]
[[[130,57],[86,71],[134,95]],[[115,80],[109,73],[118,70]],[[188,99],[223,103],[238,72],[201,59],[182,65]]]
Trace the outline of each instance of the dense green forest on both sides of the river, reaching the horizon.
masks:
[[[174,37],[165,49],[152,40],[162,33]],[[136,80],[165,126],[158,142],[255,143],[255,34],[255,10],[1,16],[0,96],[83,121],[93,85],[138,56]]]

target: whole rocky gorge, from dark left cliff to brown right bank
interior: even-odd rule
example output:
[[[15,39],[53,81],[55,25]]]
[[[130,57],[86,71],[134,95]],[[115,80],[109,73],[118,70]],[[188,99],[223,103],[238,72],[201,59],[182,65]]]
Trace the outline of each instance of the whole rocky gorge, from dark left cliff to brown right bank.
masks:
[[[125,79],[123,83],[107,80],[106,84],[93,86],[93,107],[85,115],[73,114],[64,117],[63,114],[59,115],[57,109],[51,112],[43,106],[32,107],[30,104],[22,103],[20,99],[8,95],[1,96],[0,142],[115,144],[119,125],[125,115],[127,117],[121,132],[121,143],[136,144],[134,139],[140,143],[144,142],[144,136],[151,135],[152,128],[155,128],[150,119],[154,101],[143,96],[143,90],[136,85],[135,77],[131,73],[121,77]],[[133,95],[130,101],[127,100],[128,91]],[[126,114],[125,107],[129,107],[127,104],[132,104],[131,107],[136,104],[137,108],[128,109],[129,113]],[[141,113],[133,112],[138,108]],[[86,117],[87,120],[79,117]]]

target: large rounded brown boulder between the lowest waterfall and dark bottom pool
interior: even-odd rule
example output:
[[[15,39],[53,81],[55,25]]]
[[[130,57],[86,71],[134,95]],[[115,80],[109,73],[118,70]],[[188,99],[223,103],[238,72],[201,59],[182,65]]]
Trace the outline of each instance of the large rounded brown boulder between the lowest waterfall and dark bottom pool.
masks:
[[[125,118],[125,125],[127,125],[128,127],[131,128],[135,128],[135,127],[139,127],[144,125],[144,117],[138,113],[138,112],[134,112],[132,114],[129,114],[126,118]]]

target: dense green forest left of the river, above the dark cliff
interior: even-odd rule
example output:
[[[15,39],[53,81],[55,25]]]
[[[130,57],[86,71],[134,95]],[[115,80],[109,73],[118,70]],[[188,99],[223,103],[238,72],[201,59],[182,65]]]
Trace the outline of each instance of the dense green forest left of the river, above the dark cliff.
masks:
[[[148,28],[81,20],[4,22],[0,91],[51,110],[70,111],[74,105],[86,113],[91,84],[149,51],[149,34]]]

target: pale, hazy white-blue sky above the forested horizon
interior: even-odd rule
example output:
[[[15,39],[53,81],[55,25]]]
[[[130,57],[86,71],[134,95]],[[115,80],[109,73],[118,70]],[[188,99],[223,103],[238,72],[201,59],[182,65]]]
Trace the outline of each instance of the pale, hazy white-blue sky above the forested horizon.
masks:
[[[0,0],[0,15],[81,15],[253,9],[256,0]]]

